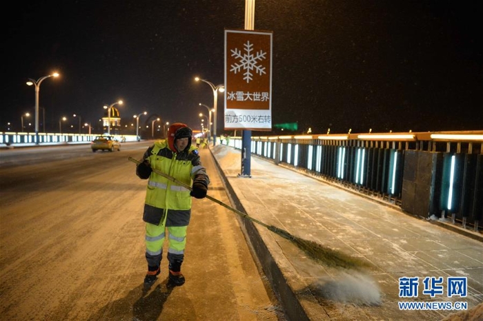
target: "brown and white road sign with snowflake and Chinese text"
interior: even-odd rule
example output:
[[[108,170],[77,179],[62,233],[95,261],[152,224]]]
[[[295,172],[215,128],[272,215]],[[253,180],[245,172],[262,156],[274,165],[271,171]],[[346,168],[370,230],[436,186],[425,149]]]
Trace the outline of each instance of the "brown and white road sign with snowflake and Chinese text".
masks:
[[[272,36],[225,30],[225,130],[272,129]]]

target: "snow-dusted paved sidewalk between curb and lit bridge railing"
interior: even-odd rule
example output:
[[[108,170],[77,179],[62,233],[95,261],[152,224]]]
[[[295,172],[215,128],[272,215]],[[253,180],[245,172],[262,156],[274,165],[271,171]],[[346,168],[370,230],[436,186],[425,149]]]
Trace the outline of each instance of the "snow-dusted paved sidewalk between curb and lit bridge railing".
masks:
[[[476,313],[483,302],[483,238],[257,157],[251,158],[252,177],[242,178],[237,149],[217,145],[210,150],[233,207],[372,265],[362,272],[320,265],[293,242],[243,219],[242,228],[290,320],[442,320],[457,311],[400,310],[398,302],[466,302],[467,314]],[[399,297],[399,279],[404,277],[419,278],[417,296]],[[423,294],[431,289],[424,287],[426,277],[442,277],[443,294]],[[447,296],[449,277],[467,278],[466,297]],[[481,304],[477,309],[482,313]]]

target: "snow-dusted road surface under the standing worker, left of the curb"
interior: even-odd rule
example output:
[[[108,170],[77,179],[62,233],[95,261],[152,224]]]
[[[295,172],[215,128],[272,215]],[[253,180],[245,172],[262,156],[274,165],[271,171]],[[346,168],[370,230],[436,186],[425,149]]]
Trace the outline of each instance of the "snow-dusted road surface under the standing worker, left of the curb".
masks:
[[[146,181],[128,156],[146,147],[0,151],[2,320],[284,320],[235,215],[207,199],[193,200],[186,284],[166,287],[165,257],[143,290]],[[201,159],[229,203],[208,149]]]

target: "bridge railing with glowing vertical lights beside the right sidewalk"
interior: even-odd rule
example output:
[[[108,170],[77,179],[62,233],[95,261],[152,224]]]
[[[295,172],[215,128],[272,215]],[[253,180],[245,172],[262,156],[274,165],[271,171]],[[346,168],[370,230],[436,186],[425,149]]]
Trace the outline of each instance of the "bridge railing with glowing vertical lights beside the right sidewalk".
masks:
[[[241,137],[222,143],[242,148]],[[253,136],[250,149],[409,214],[480,228],[483,130]]]

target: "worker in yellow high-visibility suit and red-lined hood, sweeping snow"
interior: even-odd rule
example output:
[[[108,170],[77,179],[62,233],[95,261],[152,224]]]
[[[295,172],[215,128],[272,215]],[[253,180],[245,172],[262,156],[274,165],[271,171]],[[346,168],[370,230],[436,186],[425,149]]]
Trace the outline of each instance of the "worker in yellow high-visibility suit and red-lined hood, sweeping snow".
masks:
[[[156,141],[144,153],[136,174],[148,180],[143,220],[146,222],[146,260],[148,272],[145,287],[157,280],[163,256],[165,237],[168,240],[168,278],[171,284],[183,285],[181,273],[186,247],[186,229],[191,217],[191,197],[204,198],[210,178],[201,165],[198,149],[191,145],[193,131],[183,123],[168,129],[168,140]],[[192,189],[175,183],[161,172],[179,180]],[[168,236],[166,236],[166,231]]]

